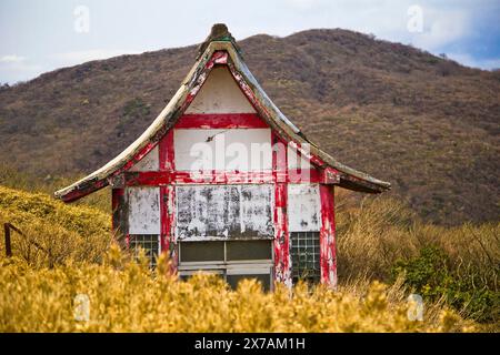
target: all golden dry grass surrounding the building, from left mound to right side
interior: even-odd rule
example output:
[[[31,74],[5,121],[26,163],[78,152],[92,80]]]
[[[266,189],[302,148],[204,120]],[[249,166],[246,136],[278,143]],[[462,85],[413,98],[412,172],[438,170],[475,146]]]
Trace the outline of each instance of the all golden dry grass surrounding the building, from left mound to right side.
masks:
[[[474,287],[498,294],[498,225],[442,229],[419,222],[398,201],[371,199],[359,205],[350,199],[343,195],[337,200],[338,290],[299,285],[291,293],[279,287],[264,294],[251,282],[237,291],[209,276],[174,282],[167,273],[167,261],[160,261],[151,272],[143,261],[134,263],[112,246],[109,214],[90,206],[66,205],[42,193],[0,186],[0,222],[16,224],[52,251],[49,258],[13,236],[16,257],[7,260],[0,244],[0,331],[486,329],[466,320],[474,317],[444,293],[424,297],[423,322],[409,321],[407,297],[414,290],[404,274],[394,273],[394,266],[436,245],[448,260],[450,275],[471,278]],[[89,322],[74,320],[77,294],[90,297]],[[498,317],[490,318],[493,325],[487,329],[498,331]]]

